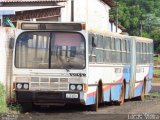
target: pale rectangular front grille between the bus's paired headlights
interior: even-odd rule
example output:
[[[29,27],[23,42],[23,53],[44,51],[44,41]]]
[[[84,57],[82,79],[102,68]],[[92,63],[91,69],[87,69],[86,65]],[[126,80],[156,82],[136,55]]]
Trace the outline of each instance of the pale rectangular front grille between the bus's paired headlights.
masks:
[[[30,90],[66,91],[69,90],[69,81],[68,78],[32,77]]]

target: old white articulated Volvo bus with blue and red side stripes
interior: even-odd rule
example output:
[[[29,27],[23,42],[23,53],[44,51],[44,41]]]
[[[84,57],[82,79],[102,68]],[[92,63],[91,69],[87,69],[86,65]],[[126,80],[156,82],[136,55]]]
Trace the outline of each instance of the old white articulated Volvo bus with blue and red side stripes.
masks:
[[[83,104],[144,99],[153,78],[153,40],[86,30],[85,23],[19,21],[9,101],[32,105]]]

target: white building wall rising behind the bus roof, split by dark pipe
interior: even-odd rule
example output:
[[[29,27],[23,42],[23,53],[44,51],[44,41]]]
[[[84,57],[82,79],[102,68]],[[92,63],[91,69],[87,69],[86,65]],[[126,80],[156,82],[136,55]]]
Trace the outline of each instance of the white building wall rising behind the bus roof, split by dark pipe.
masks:
[[[71,20],[71,0],[61,9],[61,21]],[[110,7],[99,0],[74,0],[74,21],[86,22],[88,29],[109,31]]]

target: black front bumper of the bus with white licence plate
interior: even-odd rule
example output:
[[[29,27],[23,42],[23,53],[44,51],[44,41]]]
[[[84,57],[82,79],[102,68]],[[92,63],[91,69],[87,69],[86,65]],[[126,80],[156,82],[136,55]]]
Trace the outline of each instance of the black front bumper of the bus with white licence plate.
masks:
[[[32,103],[81,103],[79,92],[53,92],[53,91],[15,91],[16,101]]]

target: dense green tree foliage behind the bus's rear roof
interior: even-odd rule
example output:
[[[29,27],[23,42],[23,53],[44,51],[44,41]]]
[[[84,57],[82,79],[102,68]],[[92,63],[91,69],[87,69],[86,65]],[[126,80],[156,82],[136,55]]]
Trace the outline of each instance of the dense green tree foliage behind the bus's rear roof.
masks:
[[[160,41],[160,0],[116,0],[118,20],[133,36],[143,36]],[[116,8],[110,12],[116,20]]]

